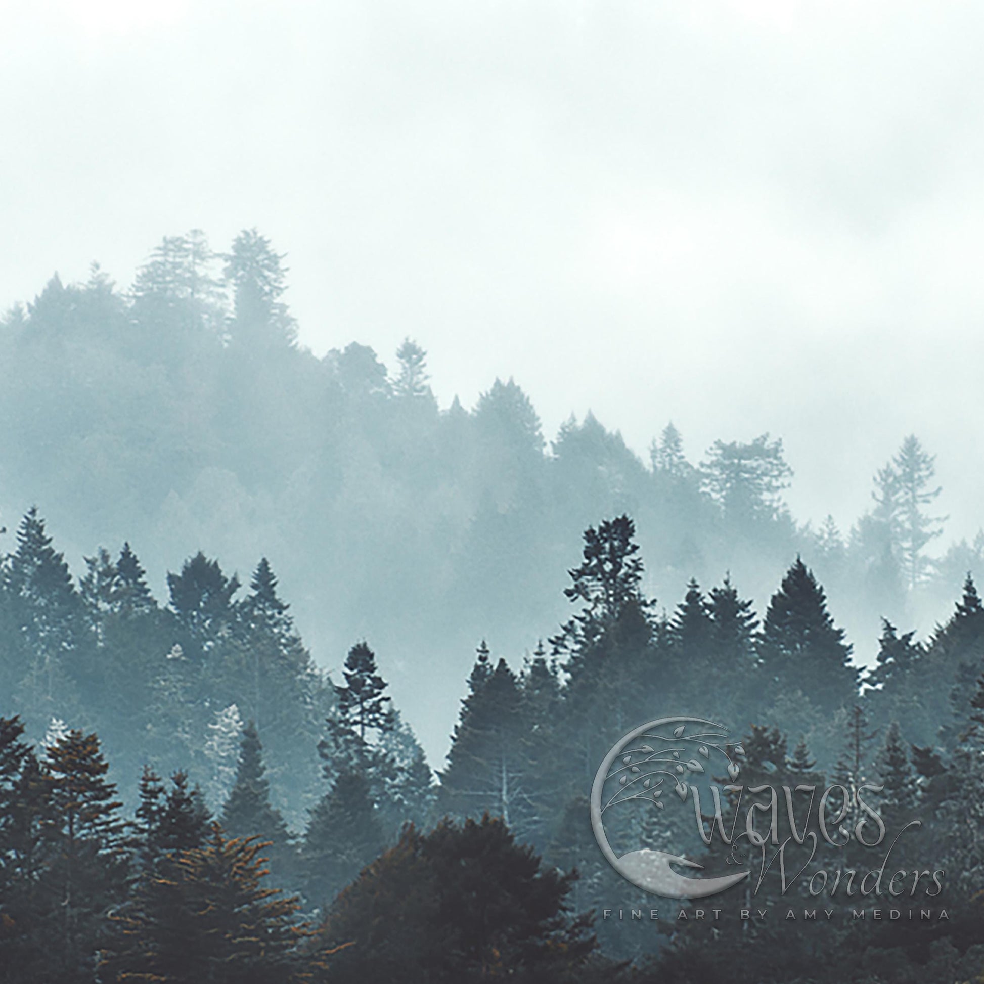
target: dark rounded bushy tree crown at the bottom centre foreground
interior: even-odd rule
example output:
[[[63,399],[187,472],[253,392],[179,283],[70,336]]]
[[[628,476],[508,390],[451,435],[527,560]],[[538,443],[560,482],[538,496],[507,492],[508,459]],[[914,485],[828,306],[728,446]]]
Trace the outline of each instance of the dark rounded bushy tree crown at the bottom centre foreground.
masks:
[[[338,897],[320,930],[326,981],[568,980],[594,949],[568,914],[576,876],[541,864],[499,820],[409,828]]]

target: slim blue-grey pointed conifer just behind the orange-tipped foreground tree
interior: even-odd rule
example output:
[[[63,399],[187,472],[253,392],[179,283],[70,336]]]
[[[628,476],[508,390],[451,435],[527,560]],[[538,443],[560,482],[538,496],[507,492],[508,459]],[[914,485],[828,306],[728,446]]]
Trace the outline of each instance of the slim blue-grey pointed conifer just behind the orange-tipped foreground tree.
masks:
[[[290,834],[279,812],[270,803],[270,783],[265,776],[263,745],[256,725],[249,721],[239,747],[239,767],[229,798],[222,807],[222,830],[236,837],[259,837],[270,843],[271,864],[279,877],[289,873],[293,850]]]

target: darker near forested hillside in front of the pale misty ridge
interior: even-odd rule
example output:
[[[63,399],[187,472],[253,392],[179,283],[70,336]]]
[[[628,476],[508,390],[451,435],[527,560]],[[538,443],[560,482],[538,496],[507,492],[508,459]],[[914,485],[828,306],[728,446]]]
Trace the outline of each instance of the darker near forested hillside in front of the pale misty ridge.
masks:
[[[860,674],[802,559],[764,613],[725,579],[707,591],[692,581],[660,614],[635,532],[625,515],[584,531],[570,618],[545,627],[549,642],[521,668],[478,646],[435,776],[372,648],[354,643],[326,678],[266,560],[237,597],[236,580],[196,554],[168,576],[162,606],[128,546],[75,582],[31,510],[0,582],[0,980],[978,974],[984,605],[973,580],[927,641],[884,621]],[[611,743],[657,708],[733,722],[746,786],[837,783],[834,824],[855,823],[874,783],[886,822],[919,822],[893,864],[943,873],[939,897],[914,904],[945,907],[945,921],[859,926],[849,913],[863,901],[818,899],[800,878],[780,893],[774,871],[757,904],[822,903],[830,917],[600,918],[655,904],[600,856],[586,793]],[[660,795],[613,835],[672,838],[720,865],[679,814],[664,818]],[[834,952],[844,960],[818,963]]]

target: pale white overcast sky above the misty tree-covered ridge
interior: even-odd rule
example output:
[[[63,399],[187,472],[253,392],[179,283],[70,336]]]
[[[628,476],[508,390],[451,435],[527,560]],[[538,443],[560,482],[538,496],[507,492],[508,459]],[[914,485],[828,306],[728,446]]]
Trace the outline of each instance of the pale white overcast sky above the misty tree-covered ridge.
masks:
[[[843,527],[915,432],[984,523],[984,8],[0,0],[0,307],[161,236],[289,254],[321,354],[515,376],[547,436],[769,431]]]

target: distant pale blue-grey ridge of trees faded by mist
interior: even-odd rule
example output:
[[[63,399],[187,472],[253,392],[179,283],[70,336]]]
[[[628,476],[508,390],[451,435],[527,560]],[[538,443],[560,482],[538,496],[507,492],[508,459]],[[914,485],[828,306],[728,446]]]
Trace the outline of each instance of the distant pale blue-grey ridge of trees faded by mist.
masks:
[[[316,660],[369,639],[432,757],[474,646],[522,663],[567,617],[565,572],[604,517],[634,519],[657,610],[725,576],[762,609],[802,557],[861,662],[882,617],[926,636],[984,573],[984,535],[944,544],[914,436],[886,449],[849,530],[797,523],[779,438],[724,434],[696,462],[670,423],[643,461],[588,413],[548,443],[512,379],[439,406],[410,339],[392,368],[354,341],[314,356],[286,275],[256,230],[227,253],[193,230],[126,290],[93,266],[8,312],[0,518],[12,530],[36,503],[69,556],[129,542],[157,583],[199,550],[226,571],[269,557]]]

